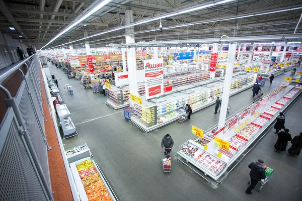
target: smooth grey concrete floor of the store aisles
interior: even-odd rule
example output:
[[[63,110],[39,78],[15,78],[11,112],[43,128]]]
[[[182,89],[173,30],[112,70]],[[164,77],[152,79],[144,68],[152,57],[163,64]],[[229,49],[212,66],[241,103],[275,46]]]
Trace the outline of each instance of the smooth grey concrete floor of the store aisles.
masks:
[[[297,71],[302,71],[302,67]],[[86,142],[119,200],[300,200],[301,156],[276,153],[273,148],[277,139],[274,130],[254,147],[218,188],[213,189],[174,158],[171,173],[164,173],[160,144],[163,136],[169,133],[175,143],[172,152],[176,154],[181,144],[197,138],[191,134],[190,124],[207,130],[218,123],[219,116],[213,114],[214,106],[193,114],[190,122],[173,123],[145,134],[124,119],[123,110],[114,111],[106,106],[103,94],[84,89],[81,81],[67,79],[66,74],[55,66],[50,66],[50,72],[58,79],[60,87],[68,83],[74,93],[63,95],[63,98],[79,136],[64,140],[65,149]],[[263,93],[285,83],[284,77],[289,74],[286,72],[275,77],[272,85],[267,81],[261,87]],[[252,101],[252,89],[230,97],[230,115]],[[285,114],[285,126],[292,137],[302,132],[302,126],[298,123],[301,104],[302,97]],[[252,195],[248,195],[245,193],[250,171],[248,164],[259,158],[273,168],[275,174],[260,193],[254,190]]]

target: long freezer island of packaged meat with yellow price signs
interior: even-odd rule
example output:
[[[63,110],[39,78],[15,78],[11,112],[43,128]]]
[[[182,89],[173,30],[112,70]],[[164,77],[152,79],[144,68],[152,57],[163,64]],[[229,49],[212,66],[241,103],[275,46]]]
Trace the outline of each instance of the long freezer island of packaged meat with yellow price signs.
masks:
[[[301,94],[301,89],[290,85],[277,87],[264,95],[262,100],[228,118],[220,130],[216,125],[204,132],[202,138],[189,140],[181,145],[177,157],[181,156],[205,175],[217,180],[267,128],[270,128],[279,112],[283,112]],[[218,139],[215,140],[216,137],[230,146],[222,149],[223,143],[220,146]],[[206,148],[204,145],[207,145]],[[221,161],[217,162],[216,159]],[[226,166],[221,166],[221,162],[225,162]]]

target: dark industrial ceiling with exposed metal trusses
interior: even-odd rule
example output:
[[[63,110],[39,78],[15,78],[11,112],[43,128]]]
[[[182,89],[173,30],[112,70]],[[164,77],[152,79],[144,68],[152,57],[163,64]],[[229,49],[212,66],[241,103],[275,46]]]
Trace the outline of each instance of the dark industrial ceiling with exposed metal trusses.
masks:
[[[94,2],[94,3],[93,3]],[[0,0],[0,30],[26,45],[34,44],[40,49],[63,30],[83,11],[86,12],[99,0]],[[73,27],[46,48],[94,35],[105,30],[125,25],[125,10],[133,11],[134,22],[167,14],[180,9],[210,2],[200,0],[113,0],[78,26]],[[179,39],[215,38],[292,34],[299,21],[302,9],[258,15],[247,18],[202,23],[213,19],[235,17],[242,14],[265,12],[273,9],[302,6],[294,0],[238,0],[209,7],[195,12],[162,19],[163,28],[200,22],[196,25],[171,28],[159,32],[160,21],[153,21],[134,27],[135,41],[164,41]],[[9,27],[15,27],[10,30]],[[155,29],[155,30],[153,30]],[[145,32],[146,30],[153,30]],[[87,32],[87,33],[86,33]],[[22,34],[23,33],[23,34]],[[302,22],[296,33],[302,33]],[[87,34],[87,35],[86,35]],[[109,43],[124,43],[124,29],[88,39],[92,47]],[[20,38],[19,36],[23,36]],[[121,37],[118,37],[121,36]],[[85,46],[84,41],[71,45]],[[80,45],[77,45],[80,44]],[[69,44],[68,44],[69,45]],[[77,45],[77,46],[76,46]]]

